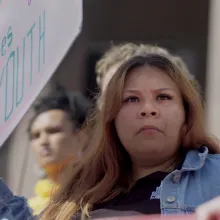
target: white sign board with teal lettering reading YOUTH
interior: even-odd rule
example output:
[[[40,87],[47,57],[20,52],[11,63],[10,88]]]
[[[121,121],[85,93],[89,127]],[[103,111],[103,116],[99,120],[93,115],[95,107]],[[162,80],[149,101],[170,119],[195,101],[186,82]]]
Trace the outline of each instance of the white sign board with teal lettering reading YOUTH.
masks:
[[[82,25],[82,0],[0,0],[0,146]]]

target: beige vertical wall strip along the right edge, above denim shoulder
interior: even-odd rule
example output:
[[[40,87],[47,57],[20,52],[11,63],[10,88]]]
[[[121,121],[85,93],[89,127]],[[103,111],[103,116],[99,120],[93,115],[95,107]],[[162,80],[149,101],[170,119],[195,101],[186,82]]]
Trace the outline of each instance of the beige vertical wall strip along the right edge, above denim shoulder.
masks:
[[[209,23],[206,122],[208,130],[220,138],[220,1],[212,0]]]

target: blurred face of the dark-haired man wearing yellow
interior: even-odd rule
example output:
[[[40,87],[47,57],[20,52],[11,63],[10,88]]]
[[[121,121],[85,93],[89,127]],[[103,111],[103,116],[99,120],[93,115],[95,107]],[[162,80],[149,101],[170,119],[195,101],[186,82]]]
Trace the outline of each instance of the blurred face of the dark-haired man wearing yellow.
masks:
[[[78,144],[72,122],[62,110],[43,112],[32,124],[30,145],[43,168],[60,165],[72,158]]]

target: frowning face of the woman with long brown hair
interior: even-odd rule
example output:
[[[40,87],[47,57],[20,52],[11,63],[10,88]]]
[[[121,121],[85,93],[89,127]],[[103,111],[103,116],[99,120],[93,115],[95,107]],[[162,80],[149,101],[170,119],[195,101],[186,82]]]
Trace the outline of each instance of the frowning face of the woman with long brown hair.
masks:
[[[128,73],[115,126],[133,162],[153,164],[175,156],[184,122],[180,90],[164,71],[144,66]]]

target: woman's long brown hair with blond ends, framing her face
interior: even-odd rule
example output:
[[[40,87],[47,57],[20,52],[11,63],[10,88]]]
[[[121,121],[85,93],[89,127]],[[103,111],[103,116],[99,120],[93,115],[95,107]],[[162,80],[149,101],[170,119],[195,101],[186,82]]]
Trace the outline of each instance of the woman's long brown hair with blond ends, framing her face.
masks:
[[[127,73],[145,65],[163,70],[181,91],[186,114],[181,147],[192,149],[206,145],[212,152],[219,152],[217,142],[206,134],[201,97],[187,74],[180,72],[169,57],[155,54],[133,57],[114,74],[103,96],[101,110],[94,112],[87,121],[89,139],[83,158],[71,166],[65,183],[41,219],[70,220],[78,213],[85,219],[93,205],[128,189],[132,164],[119,141],[114,119],[121,107]]]

